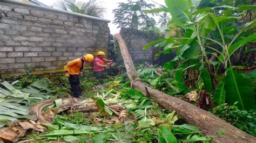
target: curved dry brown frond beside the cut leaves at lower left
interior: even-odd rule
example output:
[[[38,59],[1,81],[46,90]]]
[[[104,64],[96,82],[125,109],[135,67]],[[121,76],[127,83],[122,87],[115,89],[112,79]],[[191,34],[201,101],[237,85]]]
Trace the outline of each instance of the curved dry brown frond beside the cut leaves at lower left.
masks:
[[[45,101],[42,101],[42,102],[39,102],[35,105],[32,105],[30,106],[29,110],[30,110],[30,113],[32,113],[32,115],[35,115],[39,120],[47,120],[47,118],[45,118],[43,115],[42,115],[42,111],[43,109],[46,107],[46,106],[49,106],[51,104],[53,104],[55,102],[54,99],[48,99],[48,100],[45,100]]]

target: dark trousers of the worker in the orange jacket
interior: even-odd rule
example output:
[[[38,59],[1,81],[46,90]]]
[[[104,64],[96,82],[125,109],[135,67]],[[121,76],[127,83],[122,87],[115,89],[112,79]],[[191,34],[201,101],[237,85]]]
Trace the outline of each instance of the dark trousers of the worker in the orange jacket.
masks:
[[[80,87],[79,75],[70,75],[69,83],[70,83],[71,91],[73,92],[73,95],[75,97],[81,96],[82,90]]]

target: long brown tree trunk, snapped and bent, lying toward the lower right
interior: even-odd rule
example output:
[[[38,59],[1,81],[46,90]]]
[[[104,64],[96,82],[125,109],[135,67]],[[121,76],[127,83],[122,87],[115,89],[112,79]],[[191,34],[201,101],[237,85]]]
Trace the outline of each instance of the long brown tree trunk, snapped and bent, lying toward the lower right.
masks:
[[[171,111],[175,110],[187,123],[199,127],[205,135],[211,135],[214,142],[255,142],[256,138],[250,134],[242,132],[238,128],[228,124],[226,121],[212,115],[203,109],[198,108],[179,98],[170,96],[159,90],[147,87],[139,80],[133,61],[120,34],[115,35],[120,51],[124,59],[127,75],[132,84],[132,88],[140,90],[144,95],[149,96],[154,101]],[[220,131],[224,131],[220,134]]]

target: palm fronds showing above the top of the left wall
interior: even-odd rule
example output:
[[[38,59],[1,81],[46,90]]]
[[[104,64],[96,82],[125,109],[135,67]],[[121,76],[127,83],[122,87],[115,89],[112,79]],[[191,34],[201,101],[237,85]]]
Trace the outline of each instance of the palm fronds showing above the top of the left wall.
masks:
[[[99,5],[97,0],[89,0],[88,2],[61,0],[57,1],[55,6],[65,11],[72,11],[94,17],[103,17],[104,13],[106,12],[106,9]]]

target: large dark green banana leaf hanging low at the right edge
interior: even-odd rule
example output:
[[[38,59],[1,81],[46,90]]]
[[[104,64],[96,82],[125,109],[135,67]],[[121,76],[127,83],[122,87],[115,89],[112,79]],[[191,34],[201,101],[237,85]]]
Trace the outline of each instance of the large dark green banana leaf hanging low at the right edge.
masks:
[[[255,108],[253,90],[248,86],[245,78],[229,67],[225,77],[226,101],[233,105],[238,102],[237,106],[243,110]]]

